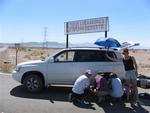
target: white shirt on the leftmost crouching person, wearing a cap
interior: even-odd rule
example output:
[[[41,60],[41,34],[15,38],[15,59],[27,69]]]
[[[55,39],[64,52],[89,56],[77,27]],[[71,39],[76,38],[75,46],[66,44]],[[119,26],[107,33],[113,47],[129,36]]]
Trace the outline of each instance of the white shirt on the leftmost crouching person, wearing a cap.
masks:
[[[74,83],[72,92],[76,94],[83,94],[84,90],[90,85],[90,80],[86,75],[81,75]]]

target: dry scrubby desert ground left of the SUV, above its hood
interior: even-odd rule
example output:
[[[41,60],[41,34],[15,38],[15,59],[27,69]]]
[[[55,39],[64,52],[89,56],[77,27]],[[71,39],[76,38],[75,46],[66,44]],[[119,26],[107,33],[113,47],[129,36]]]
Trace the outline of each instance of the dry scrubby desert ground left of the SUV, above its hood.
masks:
[[[21,48],[18,52],[18,63],[29,60],[45,59],[59,48],[42,49],[42,48]],[[0,71],[12,72],[16,66],[15,48],[8,48],[0,53]]]

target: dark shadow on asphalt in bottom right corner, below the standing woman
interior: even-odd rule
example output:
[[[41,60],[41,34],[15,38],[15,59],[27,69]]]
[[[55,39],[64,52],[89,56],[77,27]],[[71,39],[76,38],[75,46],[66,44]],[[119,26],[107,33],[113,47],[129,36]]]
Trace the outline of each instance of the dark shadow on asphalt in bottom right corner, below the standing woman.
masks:
[[[103,108],[105,113],[149,113],[148,110],[145,109],[144,106],[149,107],[150,101],[147,99],[139,99],[139,103],[134,105],[127,102],[125,100],[121,100],[119,102],[103,102],[97,104],[99,107]]]

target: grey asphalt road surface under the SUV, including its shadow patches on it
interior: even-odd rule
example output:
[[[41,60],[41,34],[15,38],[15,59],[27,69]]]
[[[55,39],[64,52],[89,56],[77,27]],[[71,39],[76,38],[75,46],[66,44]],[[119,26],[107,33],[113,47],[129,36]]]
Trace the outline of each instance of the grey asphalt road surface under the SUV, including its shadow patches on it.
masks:
[[[141,104],[131,106],[130,103],[92,102],[88,106],[74,105],[68,102],[70,87],[51,87],[39,94],[31,94],[23,90],[20,83],[12,79],[10,74],[0,73],[0,113],[149,113],[150,100],[140,99]],[[139,89],[139,92],[150,90]]]

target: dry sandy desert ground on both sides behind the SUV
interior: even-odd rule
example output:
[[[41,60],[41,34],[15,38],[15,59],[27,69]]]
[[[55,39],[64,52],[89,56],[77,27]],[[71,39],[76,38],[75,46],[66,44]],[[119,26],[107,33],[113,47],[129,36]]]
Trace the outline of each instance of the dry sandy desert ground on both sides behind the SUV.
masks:
[[[59,51],[60,48],[21,48],[18,51],[17,63],[25,62],[29,60],[45,59],[49,55]],[[138,65],[138,73],[150,76],[150,50],[130,50],[130,55],[134,56]],[[8,48],[0,53],[0,68],[3,65],[10,67],[9,71],[15,68],[16,64],[16,50],[15,48]],[[3,71],[3,69],[1,69]],[[5,71],[5,70],[4,70]]]

